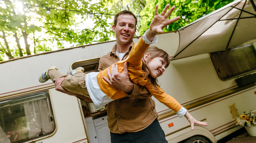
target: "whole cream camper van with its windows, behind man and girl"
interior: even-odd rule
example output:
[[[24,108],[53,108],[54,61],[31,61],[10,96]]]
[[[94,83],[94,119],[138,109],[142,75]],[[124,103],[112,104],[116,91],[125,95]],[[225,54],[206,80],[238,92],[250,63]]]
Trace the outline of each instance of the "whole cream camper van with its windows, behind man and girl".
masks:
[[[178,31],[158,34],[154,45],[174,56],[179,47]],[[138,42],[139,37],[134,38]],[[55,90],[52,81],[38,76],[51,66],[65,73],[77,67],[97,71],[101,56],[115,41],[60,49],[0,62],[1,143],[110,143],[106,108]],[[240,129],[236,118],[256,110],[255,81],[236,82],[256,70],[256,40],[226,51],[174,59],[158,78],[162,89],[173,96],[197,120],[189,122],[154,97],[158,120],[169,143],[216,143]],[[250,79],[253,79],[251,77]],[[255,79],[255,77],[254,77]],[[238,81],[238,80],[237,80]]]

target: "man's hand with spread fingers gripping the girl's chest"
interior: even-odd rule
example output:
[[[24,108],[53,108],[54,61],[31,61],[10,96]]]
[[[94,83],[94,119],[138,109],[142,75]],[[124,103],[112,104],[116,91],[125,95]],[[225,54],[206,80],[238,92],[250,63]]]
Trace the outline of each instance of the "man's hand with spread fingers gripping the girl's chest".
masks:
[[[124,63],[123,73],[118,72],[118,65],[113,65],[112,70],[108,69],[108,78],[103,76],[103,79],[108,82],[110,85],[116,87],[117,89],[121,89],[127,93],[131,93],[133,91],[133,83],[129,79],[128,75],[128,67],[127,62]]]

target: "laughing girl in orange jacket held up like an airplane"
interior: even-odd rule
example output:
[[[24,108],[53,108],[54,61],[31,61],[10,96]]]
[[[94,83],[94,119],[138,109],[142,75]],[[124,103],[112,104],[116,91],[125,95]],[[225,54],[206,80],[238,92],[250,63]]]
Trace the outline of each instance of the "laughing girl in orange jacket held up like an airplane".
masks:
[[[78,68],[70,71],[69,75],[64,75],[56,67],[52,67],[40,75],[39,81],[46,82],[48,79],[51,79],[55,82],[56,79],[65,77],[61,85],[63,88],[70,92],[90,97],[98,107],[104,107],[113,100],[125,97],[126,92],[111,86],[103,79],[103,76],[107,77],[108,71],[110,72],[112,67],[114,68],[116,65],[118,72],[123,72],[123,67],[128,62],[128,73],[132,82],[146,87],[156,99],[177,112],[179,117],[185,116],[191,124],[191,129],[194,124],[207,126],[207,123],[194,119],[181,104],[166,94],[156,82],[156,78],[161,76],[165,68],[168,67],[170,57],[163,50],[158,48],[148,49],[148,47],[152,43],[150,41],[157,40],[155,37],[157,33],[162,32],[162,29],[167,24],[179,19],[177,17],[163,24],[163,19],[166,20],[173,9],[171,8],[164,14],[167,10],[167,8],[164,8],[163,12],[159,15],[156,7],[155,17],[150,24],[150,28],[143,34],[139,42],[132,47],[130,55],[125,60],[119,61],[104,71],[91,73],[83,73],[83,70]],[[147,49],[148,52],[146,52]]]

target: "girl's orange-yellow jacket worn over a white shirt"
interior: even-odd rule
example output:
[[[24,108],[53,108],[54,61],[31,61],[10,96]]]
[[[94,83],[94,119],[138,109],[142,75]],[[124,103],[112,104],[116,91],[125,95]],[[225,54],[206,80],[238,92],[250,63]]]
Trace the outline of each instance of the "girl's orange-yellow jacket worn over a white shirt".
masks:
[[[144,86],[148,89],[148,91],[161,103],[169,107],[170,109],[174,110],[175,112],[178,112],[181,109],[181,104],[178,103],[172,96],[166,94],[161,88],[159,90],[163,93],[156,93],[154,89],[152,89],[151,85],[148,82],[148,78],[145,79],[143,77],[144,71],[142,71],[142,60],[145,51],[149,47],[149,44],[146,44],[142,37],[139,39],[139,42],[134,44],[130,55],[122,61],[119,61],[116,63],[118,65],[118,72],[123,72],[124,63],[128,62],[128,74],[129,78],[133,83],[139,84],[141,86]],[[108,69],[112,69],[112,66]],[[100,71],[97,75],[97,81],[100,89],[108,95],[111,99],[119,99],[122,97],[127,96],[126,92],[117,89],[113,86],[111,86],[108,82],[106,82],[103,79],[103,76],[108,77],[107,69],[104,71]]]

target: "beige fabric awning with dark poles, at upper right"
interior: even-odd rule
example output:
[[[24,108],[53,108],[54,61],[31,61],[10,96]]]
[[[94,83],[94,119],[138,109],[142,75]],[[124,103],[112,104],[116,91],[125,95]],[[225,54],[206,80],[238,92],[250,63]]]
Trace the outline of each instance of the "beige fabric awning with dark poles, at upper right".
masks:
[[[172,60],[225,51],[256,39],[256,1],[251,2],[236,0],[178,29],[180,44]]]

